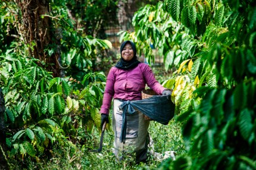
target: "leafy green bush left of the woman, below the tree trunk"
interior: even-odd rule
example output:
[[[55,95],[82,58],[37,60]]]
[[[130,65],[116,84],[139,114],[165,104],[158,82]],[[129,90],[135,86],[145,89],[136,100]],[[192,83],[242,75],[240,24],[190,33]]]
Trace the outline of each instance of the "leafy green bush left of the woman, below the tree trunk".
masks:
[[[39,156],[55,144],[76,147],[73,143],[85,143],[85,134],[99,127],[103,73],[86,74],[79,83],[71,77],[53,78],[36,65],[38,59],[13,51],[0,57],[11,157]]]

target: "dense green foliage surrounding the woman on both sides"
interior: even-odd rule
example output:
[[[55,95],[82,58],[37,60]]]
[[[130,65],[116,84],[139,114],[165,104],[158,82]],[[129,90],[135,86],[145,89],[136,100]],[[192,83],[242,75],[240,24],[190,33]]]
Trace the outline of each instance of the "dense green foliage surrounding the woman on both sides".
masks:
[[[173,89],[176,104],[173,121],[152,123],[151,134],[157,152],[175,150],[177,160],[158,165],[149,158],[140,166],[129,156],[115,162],[111,131],[104,157],[88,153],[100,133],[105,74],[98,71],[117,58],[104,28],[118,24],[118,1],[45,2],[1,2],[8,166],[256,169],[254,1],[150,1],[135,12],[134,29],[119,33],[120,40],[136,42],[149,64],[156,53],[163,56],[167,72],[154,71]]]

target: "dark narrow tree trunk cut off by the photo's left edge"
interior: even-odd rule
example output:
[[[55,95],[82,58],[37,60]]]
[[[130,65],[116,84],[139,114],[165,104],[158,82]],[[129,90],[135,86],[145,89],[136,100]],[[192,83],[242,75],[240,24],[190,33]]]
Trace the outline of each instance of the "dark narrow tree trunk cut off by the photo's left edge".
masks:
[[[6,136],[5,136],[5,100],[2,94],[2,89],[0,88],[0,169],[9,169],[7,158],[5,156],[6,148]]]

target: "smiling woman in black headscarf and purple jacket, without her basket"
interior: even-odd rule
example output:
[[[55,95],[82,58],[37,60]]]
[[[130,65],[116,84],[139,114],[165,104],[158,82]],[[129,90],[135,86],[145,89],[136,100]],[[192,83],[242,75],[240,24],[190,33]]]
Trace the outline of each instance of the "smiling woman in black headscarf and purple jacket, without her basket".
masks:
[[[120,47],[121,59],[115,67],[110,69],[107,77],[103,103],[101,106],[101,127],[108,122],[108,114],[111,100],[114,97],[113,105],[113,131],[114,153],[121,158],[122,152],[132,149],[136,153],[136,162],[144,162],[147,158],[147,143],[149,121],[145,120],[143,114],[136,111],[133,115],[127,115],[125,141],[120,141],[122,127],[122,113],[119,108],[123,101],[141,100],[142,90],[145,84],[153,89],[158,95],[167,95],[170,98],[171,91],[164,88],[155,80],[151,68],[147,64],[138,61],[135,44],[127,40]]]

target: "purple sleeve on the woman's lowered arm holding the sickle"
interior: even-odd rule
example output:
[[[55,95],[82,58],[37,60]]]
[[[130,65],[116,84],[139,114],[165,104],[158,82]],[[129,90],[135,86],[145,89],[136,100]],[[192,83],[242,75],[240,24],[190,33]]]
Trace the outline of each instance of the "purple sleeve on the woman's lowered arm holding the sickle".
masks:
[[[114,96],[114,82],[115,82],[115,76],[114,76],[114,68],[110,69],[110,72],[108,73],[107,82],[105,86],[102,106],[101,106],[101,114],[109,114],[109,110],[111,107],[111,101]]]

